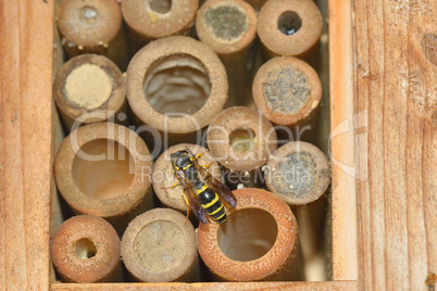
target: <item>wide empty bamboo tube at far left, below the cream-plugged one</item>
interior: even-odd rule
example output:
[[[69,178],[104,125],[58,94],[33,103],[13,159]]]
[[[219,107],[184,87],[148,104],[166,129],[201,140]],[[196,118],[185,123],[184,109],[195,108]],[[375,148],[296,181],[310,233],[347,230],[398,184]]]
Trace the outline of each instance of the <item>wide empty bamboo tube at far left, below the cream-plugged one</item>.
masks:
[[[90,124],[63,140],[54,178],[75,213],[101,216],[123,233],[136,215],[153,206],[151,160],[136,132],[111,123]]]

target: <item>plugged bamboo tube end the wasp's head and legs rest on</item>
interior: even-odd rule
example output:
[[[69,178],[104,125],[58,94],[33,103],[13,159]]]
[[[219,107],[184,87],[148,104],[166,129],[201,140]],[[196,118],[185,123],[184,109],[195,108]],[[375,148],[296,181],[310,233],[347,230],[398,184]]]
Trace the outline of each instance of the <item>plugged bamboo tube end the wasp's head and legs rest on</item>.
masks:
[[[203,153],[199,159],[201,165],[209,165],[208,172],[216,179],[221,179],[221,170],[218,164],[214,161],[211,153],[202,146],[192,143],[178,143],[170,147],[163,152],[153,164],[153,190],[161,203],[166,207],[172,207],[183,214],[187,213],[187,206],[183,199],[184,187],[177,186],[170,188],[177,179],[173,174],[171,154],[180,150],[189,149],[193,154]],[[196,217],[190,211],[190,219],[197,225]]]

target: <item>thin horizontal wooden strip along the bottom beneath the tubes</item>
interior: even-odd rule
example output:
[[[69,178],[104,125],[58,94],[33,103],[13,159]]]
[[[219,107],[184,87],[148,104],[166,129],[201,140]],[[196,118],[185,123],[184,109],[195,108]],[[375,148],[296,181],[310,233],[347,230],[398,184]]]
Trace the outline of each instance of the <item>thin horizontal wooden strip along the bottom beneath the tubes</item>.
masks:
[[[357,281],[336,282],[214,282],[214,283],[53,283],[51,290],[358,290]]]

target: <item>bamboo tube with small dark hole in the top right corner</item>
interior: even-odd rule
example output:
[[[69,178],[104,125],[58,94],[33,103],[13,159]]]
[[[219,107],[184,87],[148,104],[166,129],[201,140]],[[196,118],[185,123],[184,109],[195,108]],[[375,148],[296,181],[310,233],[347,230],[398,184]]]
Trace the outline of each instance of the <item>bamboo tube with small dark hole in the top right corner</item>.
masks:
[[[258,18],[258,36],[265,55],[308,60],[322,35],[322,15],[312,0],[270,0]]]

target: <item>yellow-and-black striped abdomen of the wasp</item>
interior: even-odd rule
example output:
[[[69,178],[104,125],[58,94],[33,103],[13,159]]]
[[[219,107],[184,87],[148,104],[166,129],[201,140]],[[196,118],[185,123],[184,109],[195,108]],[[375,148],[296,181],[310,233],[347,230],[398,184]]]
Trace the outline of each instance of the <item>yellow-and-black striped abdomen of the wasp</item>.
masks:
[[[226,223],[226,212],[218,194],[205,184],[198,188],[200,204],[204,212],[218,224]]]

